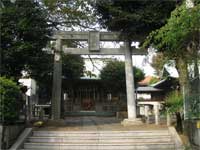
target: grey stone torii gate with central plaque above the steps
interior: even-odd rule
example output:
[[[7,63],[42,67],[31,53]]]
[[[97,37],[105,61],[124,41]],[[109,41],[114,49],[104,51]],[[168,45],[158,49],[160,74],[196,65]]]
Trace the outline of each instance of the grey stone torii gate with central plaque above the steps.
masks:
[[[61,52],[77,55],[125,55],[126,71],[126,93],[128,119],[125,121],[135,123],[136,118],[136,99],[134,96],[134,77],[132,66],[132,55],[144,55],[146,52],[132,49],[131,43],[124,41],[124,46],[120,48],[100,48],[100,41],[122,41],[118,32],[71,32],[57,31],[52,36],[56,40],[54,52],[54,72],[52,89],[52,119],[60,119],[61,114],[61,86],[62,86],[62,60]],[[88,41],[87,48],[68,48],[63,45],[63,40]]]

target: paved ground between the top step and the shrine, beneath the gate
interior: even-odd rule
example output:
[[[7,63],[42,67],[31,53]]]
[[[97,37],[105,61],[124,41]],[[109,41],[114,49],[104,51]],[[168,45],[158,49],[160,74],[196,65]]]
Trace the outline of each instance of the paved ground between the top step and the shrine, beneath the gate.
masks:
[[[126,126],[121,125],[121,119],[115,117],[66,117],[64,120],[48,121],[44,127],[38,130],[62,130],[62,131],[88,131],[88,130],[152,130],[152,129],[166,129],[165,125],[136,125]]]

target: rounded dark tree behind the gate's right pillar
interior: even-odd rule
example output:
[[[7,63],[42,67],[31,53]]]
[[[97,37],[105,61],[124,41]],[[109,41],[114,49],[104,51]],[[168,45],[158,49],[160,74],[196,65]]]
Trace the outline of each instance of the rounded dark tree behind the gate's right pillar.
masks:
[[[116,60],[108,62],[101,70],[100,78],[106,82],[107,89],[115,92],[124,92],[126,89],[125,63]],[[135,84],[143,78],[143,71],[134,67]]]

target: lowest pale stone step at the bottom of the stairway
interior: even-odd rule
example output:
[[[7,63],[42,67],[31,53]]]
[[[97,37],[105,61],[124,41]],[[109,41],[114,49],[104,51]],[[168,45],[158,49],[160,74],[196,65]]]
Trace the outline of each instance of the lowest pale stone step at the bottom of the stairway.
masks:
[[[127,149],[140,149],[140,150],[147,150],[147,149],[173,149],[174,145],[169,143],[118,143],[118,144],[96,144],[96,143],[76,143],[76,144],[57,144],[57,143],[25,143],[25,149],[62,149],[62,150],[127,150]]]

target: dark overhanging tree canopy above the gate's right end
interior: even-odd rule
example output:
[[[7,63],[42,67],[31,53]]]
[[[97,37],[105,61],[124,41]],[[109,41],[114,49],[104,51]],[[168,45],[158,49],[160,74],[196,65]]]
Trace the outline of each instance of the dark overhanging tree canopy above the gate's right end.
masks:
[[[143,40],[146,35],[166,23],[178,1],[97,1],[99,22],[111,31],[120,31],[129,40]]]

